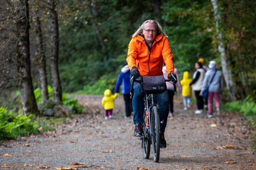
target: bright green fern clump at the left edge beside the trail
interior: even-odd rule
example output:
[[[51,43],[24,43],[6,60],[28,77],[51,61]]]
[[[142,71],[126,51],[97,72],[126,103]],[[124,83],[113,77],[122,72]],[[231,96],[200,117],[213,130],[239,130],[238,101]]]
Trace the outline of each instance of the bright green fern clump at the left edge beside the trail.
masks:
[[[34,121],[35,116],[16,115],[7,112],[6,108],[0,108],[0,141],[3,139],[12,139],[27,134],[37,134],[38,125]]]

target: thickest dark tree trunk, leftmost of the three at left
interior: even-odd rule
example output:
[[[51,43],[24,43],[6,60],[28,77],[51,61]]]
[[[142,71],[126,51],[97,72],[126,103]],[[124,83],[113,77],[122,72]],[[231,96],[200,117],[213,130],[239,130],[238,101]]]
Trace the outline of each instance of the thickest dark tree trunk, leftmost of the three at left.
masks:
[[[18,4],[16,26],[18,35],[16,48],[18,84],[23,112],[24,115],[28,113],[39,114],[31,78],[28,0],[21,0]]]

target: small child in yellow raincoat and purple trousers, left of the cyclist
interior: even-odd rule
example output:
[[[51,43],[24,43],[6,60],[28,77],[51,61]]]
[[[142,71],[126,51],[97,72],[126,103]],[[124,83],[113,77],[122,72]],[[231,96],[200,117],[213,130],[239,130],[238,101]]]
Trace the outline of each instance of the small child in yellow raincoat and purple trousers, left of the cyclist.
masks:
[[[117,98],[118,93],[112,95],[111,90],[107,89],[104,92],[104,97],[102,98],[102,106],[105,110],[105,119],[112,118],[112,112],[114,109],[114,101]]]

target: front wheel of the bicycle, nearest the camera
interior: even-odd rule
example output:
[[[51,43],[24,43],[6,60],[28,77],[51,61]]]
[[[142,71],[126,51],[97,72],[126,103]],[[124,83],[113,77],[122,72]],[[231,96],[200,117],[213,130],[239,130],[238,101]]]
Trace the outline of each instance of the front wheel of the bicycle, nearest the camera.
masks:
[[[160,123],[159,123],[159,110],[156,106],[153,106],[151,111],[151,140],[152,140],[152,150],[153,158],[155,162],[159,161],[160,157]]]

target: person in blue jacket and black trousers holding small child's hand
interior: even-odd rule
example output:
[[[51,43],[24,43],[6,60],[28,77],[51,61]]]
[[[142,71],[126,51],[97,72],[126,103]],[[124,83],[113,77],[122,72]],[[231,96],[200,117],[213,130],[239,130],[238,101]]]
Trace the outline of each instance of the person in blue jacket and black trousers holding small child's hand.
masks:
[[[132,99],[130,98],[130,89],[131,89],[130,75],[131,75],[131,71],[128,67],[127,62],[125,62],[117,78],[116,87],[114,90],[115,93],[119,93],[119,88],[122,85],[121,88],[122,88],[123,98],[125,102],[125,113],[126,113],[125,118],[127,119],[131,117],[131,113],[133,112]]]

